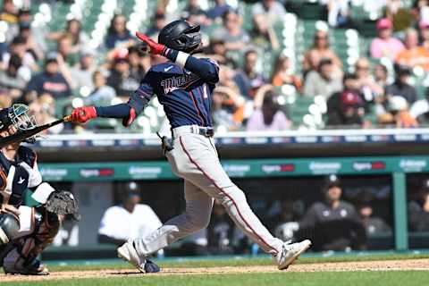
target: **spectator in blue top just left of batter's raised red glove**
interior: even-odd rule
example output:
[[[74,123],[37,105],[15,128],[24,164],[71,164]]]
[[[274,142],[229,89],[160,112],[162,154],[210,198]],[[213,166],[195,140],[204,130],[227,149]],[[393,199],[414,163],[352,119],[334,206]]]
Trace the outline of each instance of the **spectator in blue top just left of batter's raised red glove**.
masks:
[[[126,28],[126,19],[122,14],[115,14],[107,30],[105,46],[110,50],[114,47],[129,46],[132,43],[130,31]]]

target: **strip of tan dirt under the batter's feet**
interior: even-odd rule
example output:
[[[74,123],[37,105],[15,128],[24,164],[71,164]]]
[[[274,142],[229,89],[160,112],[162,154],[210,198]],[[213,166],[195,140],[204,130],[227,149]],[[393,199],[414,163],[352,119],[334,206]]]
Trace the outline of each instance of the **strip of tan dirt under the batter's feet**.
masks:
[[[358,261],[358,262],[335,262],[322,264],[291,265],[289,272],[344,272],[344,271],[406,271],[406,270],[428,270],[429,259],[405,259],[386,261]],[[105,269],[91,271],[64,271],[51,273],[48,276],[21,276],[0,274],[0,282],[21,282],[38,280],[63,280],[84,278],[109,278],[129,275],[197,275],[197,274],[221,274],[221,273],[281,273],[273,266],[240,266],[240,267],[198,267],[198,268],[163,268],[160,273],[143,274],[135,269]]]

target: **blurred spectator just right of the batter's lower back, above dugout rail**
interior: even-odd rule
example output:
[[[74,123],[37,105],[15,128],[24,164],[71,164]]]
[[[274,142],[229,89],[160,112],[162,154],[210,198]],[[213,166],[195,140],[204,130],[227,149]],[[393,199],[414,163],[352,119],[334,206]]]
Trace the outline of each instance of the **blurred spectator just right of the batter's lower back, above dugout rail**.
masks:
[[[212,116],[218,130],[239,130],[244,116],[244,98],[237,88],[218,86],[212,96]]]

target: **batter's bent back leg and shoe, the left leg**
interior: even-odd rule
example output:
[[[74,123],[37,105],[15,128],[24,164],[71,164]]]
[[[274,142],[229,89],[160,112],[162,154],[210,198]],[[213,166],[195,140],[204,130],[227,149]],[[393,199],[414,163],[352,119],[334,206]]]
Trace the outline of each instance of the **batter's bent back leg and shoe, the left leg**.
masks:
[[[184,181],[184,192],[185,212],[173,217],[146,237],[130,240],[123,244],[121,248],[118,248],[119,257],[135,265],[141,272],[147,272],[144,267],[148,255],[205,228],[210,222],[214,199],[186,180]]]

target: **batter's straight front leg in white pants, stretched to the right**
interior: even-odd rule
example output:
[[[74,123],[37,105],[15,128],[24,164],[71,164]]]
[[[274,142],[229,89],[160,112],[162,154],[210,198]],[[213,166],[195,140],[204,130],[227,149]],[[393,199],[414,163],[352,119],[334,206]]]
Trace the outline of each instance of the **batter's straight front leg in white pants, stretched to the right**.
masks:
[[[182,163],[179,166],[181,175],[213,198],[218,199],[230,214],[231,219],[265,252],[274,257],[282,256],[285,252],[284,248],[287,246],[282,240],[274,238],[250,209],[243,191],[224,172],[213,141],[193,134],[182,136],[178,140],[180,146],[175,144],[175,147],[181,150],[187,161],[187,164]],[[296,245],[299,247],[299,254],[307,250],[309,244],[310,242],[306,241],[303,245]],[[293,255],[297,253],[294,252]],[[293,259],[295,258],[293,257]]]

